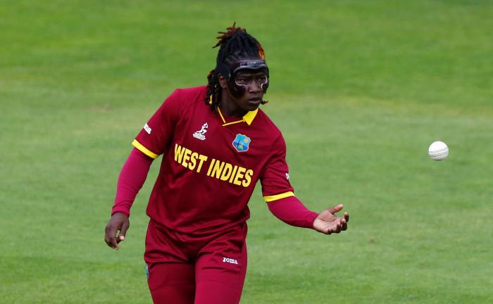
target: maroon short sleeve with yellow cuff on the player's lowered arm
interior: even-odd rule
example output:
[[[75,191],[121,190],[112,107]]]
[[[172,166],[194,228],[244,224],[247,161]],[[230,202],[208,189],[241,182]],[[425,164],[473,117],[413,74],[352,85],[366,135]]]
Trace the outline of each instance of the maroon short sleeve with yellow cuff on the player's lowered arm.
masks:
[[[180,89],[171,94],[137,134],[132,145],[151,158],[167,151],[180,118]]]

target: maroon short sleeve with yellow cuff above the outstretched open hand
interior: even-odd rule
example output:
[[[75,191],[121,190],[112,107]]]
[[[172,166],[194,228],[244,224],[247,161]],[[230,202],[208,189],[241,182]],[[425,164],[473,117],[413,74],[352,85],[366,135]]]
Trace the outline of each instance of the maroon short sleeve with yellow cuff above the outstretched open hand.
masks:
[[[289,183],[289,169],[286,163],[286,143],[282,135],[273,144],[273,154],[260,177],[262,194],[266,202],[294,196]]]

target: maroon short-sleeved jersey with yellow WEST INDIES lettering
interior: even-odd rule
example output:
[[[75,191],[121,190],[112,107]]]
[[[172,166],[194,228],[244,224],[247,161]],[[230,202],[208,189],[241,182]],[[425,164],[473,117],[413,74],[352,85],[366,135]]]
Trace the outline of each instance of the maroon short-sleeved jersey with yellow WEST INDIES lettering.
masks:
[[[163,154],[147,215],[185,234],[246,221],[258,179],[266,201],[294,196],[285,141],[267,115],[227,118],[205,96],[206,87],[175,90],[132,143],[151,158]]]

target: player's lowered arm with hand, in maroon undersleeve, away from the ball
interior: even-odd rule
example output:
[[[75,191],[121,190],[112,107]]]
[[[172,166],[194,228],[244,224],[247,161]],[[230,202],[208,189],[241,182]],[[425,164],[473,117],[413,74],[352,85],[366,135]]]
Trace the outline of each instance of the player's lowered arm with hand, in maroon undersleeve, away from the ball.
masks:
[[[130,221],[130,207],[135,196],[146,181],[149,168],[154,159],[133,148],[118,177],[115,204],[111,209],[111,219],[105,229],[104,241],[111,248],[118,249],[118,243],[125,239]]]

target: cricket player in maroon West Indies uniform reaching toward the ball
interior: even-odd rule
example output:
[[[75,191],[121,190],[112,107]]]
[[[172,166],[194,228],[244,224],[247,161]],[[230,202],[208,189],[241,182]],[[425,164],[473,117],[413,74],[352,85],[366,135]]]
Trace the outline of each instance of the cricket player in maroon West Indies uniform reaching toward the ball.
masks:
[[[335,215],[342,205],[317,214],[294,196],[285,141],[258,108],[269,85],[261,45],[235,25],[220,34],[208,84],[175,90],[137,134],[106,226],[106,243],[118,248],[135,196],[163,154],[146,210],[154,303],[239,303],[247,203],[258,180],[280,220],[324,234],[347,229],[349,215]]]

